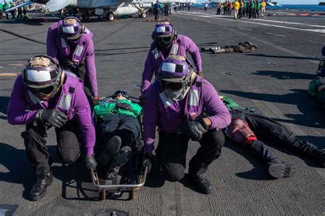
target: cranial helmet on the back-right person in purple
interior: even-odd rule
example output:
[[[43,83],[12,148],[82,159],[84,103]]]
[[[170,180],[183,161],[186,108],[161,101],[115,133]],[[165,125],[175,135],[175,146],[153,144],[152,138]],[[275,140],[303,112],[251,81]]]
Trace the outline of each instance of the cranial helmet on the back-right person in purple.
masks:
[[[168,22],[157,23],[152,33],[152,39],[159,45],[166,46],[168,48],[171,45],[171,41],[176,37],[176,31],[173,29],[173,25]]]

